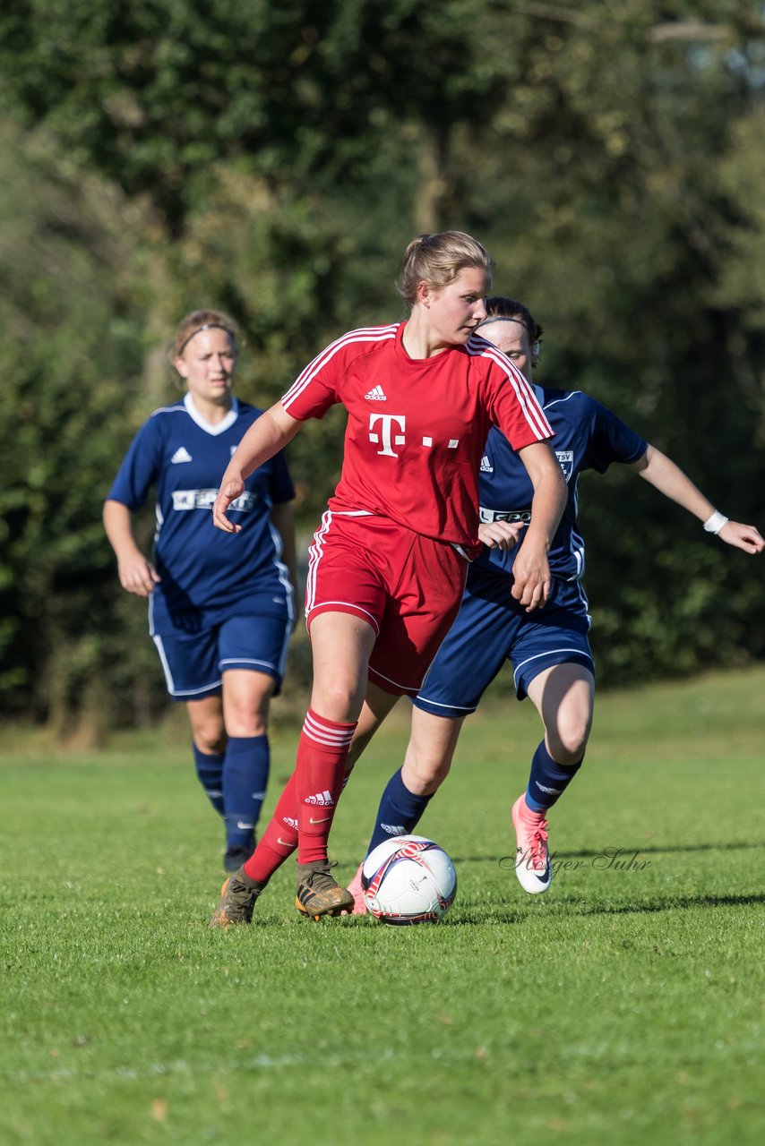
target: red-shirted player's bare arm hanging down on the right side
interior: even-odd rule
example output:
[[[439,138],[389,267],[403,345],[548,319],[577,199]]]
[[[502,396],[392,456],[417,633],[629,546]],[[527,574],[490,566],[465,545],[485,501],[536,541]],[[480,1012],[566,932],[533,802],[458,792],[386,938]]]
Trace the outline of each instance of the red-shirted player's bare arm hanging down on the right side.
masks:
[[[552,575],[547,551],[569,495],[563,471],[548,442],[536,441],[524,446],[518,450],[518,457],[531,478],[534,495],[531,521],[513,563],[512,594],[530,613],[544,607],[549,597]]]

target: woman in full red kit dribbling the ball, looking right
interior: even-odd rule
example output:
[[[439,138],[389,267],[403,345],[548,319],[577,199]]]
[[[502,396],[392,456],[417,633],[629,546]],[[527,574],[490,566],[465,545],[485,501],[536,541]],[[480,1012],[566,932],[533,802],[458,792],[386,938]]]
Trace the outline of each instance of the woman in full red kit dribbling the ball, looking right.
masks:
[[[304,421],[345,406],[343,470],[311,547],[313,686],[295,771],[255,853],[224,884],[211,926],[249,923],[296,848],[298,910],[312,918],[352,910],[327,859],[349,745],[364,709],[378,723],[400,696],[416,696],[456,615],[481,544],[477,474],[492,424],[534,487],[512,592],[529,611],[547,599],[547,549],[565,482],[532,387],[497,347],[473,337],[486,316],[492,267],[461,231],[409,243],[399,286],[407,321],[331,343],[248,431],[223,477],[213,520],[233,533],[226,510],[247,476]]]

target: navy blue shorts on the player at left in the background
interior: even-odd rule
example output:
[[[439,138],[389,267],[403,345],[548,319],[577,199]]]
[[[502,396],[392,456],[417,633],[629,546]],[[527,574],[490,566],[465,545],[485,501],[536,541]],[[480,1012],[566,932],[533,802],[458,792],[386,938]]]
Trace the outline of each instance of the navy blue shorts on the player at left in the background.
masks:
[[[177,700],[198,700],[220,692],[223,674],[231,668],[265,673],[281,690],[292,622],[266,614],[232,617],[200,633],[154,635],[165,673],[167,692]]]

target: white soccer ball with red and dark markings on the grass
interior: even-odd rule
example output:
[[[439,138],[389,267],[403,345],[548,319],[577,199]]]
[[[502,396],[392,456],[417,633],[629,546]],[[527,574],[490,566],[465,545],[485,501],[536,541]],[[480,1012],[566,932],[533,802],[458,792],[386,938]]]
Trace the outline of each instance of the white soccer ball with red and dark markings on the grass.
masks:
[[[454,903],[456,872],[432,840],[397,835],[364,861],[361,890],[367,911],[383,924],[437,924]]]

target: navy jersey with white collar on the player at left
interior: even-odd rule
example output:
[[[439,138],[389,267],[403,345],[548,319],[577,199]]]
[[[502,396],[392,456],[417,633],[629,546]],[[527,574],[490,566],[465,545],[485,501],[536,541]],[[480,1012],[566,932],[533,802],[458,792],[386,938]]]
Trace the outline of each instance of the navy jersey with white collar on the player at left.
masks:
[[[263,410],[234,399],[212,425],[189,394],[155,410],[136,433],[108,497],[140,509],[156,489],[151,633],[203,629],[239,613],[287,615],[289,578],[271,508],[295,496],[282,454],[259,466],[232,502],[237,534],[212,524],[212,503],[236,446]]]

